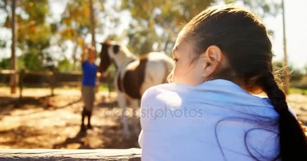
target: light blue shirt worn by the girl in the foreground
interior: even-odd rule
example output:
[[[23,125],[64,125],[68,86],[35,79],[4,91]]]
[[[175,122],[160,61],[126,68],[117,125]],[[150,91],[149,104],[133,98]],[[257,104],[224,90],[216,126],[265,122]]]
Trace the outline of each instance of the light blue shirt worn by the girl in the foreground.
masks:
[[[254,160],[249,152],[272,160],[280,151],[278,116],[270,99],[225,79],[151,87],[141,99],[142,160]]]

